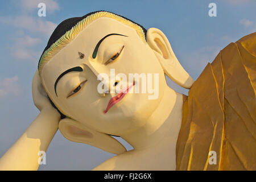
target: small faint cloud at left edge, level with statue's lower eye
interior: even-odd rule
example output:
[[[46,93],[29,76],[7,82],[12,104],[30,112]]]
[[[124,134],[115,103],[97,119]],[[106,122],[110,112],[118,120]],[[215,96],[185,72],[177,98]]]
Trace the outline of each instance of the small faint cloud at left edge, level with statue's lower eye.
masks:
[[[17,84],[18,79],[18,76],[3,78],[3,80],[0,79],[0,98],[18,96],[20,94],[20,88]]]

